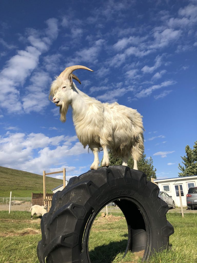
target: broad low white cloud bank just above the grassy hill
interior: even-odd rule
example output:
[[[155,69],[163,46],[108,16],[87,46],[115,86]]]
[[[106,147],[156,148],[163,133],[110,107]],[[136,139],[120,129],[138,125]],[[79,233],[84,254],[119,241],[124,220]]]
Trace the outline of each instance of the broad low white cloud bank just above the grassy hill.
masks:
[[[87,153],[77,136],[48,137],[42,133],[10,133],[0,136],[2,166],[40,173],[59,163],[66,164],[66,156]]]

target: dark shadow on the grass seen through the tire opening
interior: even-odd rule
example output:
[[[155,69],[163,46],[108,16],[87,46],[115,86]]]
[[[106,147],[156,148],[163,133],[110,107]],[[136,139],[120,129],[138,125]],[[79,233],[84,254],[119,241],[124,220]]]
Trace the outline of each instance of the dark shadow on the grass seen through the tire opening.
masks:
[[[108,245],[97,246],[94,250],[89,251],[90,260],[92,263],[111,263],[118,253],[125,253],[126,247],[127,239],[120,242],[110,242]]]

